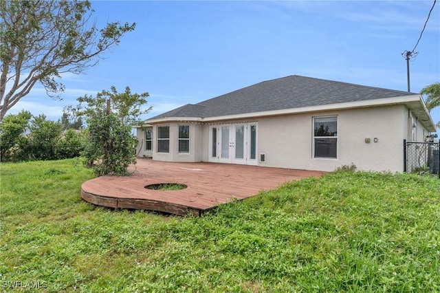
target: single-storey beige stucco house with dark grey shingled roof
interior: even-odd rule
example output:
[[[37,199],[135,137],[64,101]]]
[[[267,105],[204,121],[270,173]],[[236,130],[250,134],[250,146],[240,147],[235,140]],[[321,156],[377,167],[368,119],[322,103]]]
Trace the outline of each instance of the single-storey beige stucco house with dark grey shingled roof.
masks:
[[[404,171],[404,140],[436,131],[420,94],[305,76],[184,105],[137,129],[139,156],[334,171]]]

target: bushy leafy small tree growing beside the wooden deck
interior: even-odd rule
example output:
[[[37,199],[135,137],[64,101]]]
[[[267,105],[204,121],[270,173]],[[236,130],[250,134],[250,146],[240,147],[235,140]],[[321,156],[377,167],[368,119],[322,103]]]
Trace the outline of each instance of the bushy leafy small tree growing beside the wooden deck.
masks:
[[[79,113],[86,116],[88,126],[84,156],[96,175],[128,175],[129,164],[135,162],[136,140],[131,126],[151,109],[142,110],[147,96],[131,94],[129,87],[123,93],[111,87],[111,91],[101,91],[96,98],[78,98],[82,109]]]

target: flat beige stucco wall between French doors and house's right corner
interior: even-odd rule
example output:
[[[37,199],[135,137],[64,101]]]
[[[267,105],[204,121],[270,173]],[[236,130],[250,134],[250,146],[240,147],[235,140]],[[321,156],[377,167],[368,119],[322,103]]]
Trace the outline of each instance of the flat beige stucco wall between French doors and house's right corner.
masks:
[[[263,118],[258,149],[266,153],[266,163],[259,165],[334,171],[353,163],[358,170],[401,172],[406,113],[406,107],[396,105]],[[313,158],[312,124],[320,116],[338,116],[337,159]]]

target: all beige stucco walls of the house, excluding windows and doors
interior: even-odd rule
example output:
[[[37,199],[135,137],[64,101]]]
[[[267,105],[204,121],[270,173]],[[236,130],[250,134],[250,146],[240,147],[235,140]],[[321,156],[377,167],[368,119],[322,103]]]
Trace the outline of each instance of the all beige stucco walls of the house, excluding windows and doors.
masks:
[[[322,116],[338,117],[336,159],[314,158],[313,122],[314,117]],[[334,171],[355,164],[358,170],[402,172],[404,139],[411,141],[414,137],[422,142],[428,135],[404,105],[300,113],[253,121],[258,123],[257,158],[259,153],[266,154],[266,162],[259,162],[259,166],[287,169]],[[412,121],[415,121],[414,129]],[[188,123],[160,124],[170,127],[169,153],[157,153],[158,125],[153,127],[153,160],[208,162],[209,124],[189,123],[190,152],[178,153],[179,124]],[[137,137],[144,139],[144,133],[138,131]]]

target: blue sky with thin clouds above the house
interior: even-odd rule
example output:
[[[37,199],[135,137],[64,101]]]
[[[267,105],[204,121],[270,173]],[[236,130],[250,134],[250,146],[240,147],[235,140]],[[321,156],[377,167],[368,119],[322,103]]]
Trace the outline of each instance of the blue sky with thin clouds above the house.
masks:
[[[137,23],[85,74],[64,74],[62,101],[37,85],[10,111],[61,117],[114,85],[148,92],[155,116],[254,83],[302,75],[407,90],[406,61],[432,1],[92,1],[98,26]],[[410,87],[440,81],[440,3],[410,61]],[[440,109],[431,112],[440,120]]]

